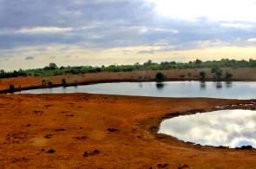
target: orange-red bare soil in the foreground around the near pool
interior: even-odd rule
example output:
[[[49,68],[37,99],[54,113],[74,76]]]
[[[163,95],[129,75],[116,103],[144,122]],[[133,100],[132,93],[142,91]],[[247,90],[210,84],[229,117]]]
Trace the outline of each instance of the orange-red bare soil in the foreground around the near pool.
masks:
[[[0,168],[255,168],[255,150],[193,146],[155,133],[175,114],[249,102],[1,94]]]

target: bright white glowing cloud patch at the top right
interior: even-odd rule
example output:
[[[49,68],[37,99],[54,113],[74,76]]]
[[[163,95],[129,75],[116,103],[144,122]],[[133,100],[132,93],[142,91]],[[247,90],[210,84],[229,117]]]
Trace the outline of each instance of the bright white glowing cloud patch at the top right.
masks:
[[[193,20],[202,16],[218,21],[255,22],[255,0],[149,0],[164,16]]]

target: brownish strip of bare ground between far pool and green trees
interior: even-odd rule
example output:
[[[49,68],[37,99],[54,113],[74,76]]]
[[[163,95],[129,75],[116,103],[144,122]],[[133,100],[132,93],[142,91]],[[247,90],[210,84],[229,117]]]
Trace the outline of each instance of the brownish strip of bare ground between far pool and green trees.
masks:
[[[256,68],[221,68],[223,75],[226,71],[230,72],[233,81],[256,81]],[[172,69],[172,70],[152,70],[152,71],[133,71],[133,72],[102,72],[97,74],[85,75],[57,75],[51,77],[18,77],[0,80],[0,91],[9,89],[12,84],[16,89],[23,88],[42,88],[42,82],[51,81],[54,85],[62,85],[62,79],[65,79],[67,84],[79,83],[97,83],[108,81],[154,81],[155,74],[162,72],[167,77],[167,81],[177,80],[199,80],[200,71],[205,71],[207,80],[213,81],[213,74],[210,68],[187,68],[187,69]],[[185,75],[181,77],[181,75]]]

